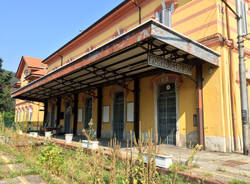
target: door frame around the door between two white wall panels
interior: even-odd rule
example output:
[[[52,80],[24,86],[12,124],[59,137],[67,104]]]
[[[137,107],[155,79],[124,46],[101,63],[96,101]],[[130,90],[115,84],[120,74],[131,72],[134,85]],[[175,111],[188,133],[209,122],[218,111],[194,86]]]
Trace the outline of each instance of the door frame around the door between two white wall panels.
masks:
[[[122,134],[122,140],[125,139],[126,137],[126,119],[125,119],[125,115],[126,115],[126,92],[124,90],[116,90],[114,93],[112,93],[112,96],[111,96],[111,99],[112,99],[112,112],[111,112],[111,126],[110,126],[110,135],[111,135],[111,138],[114,138],[114,102],[115,102],[115,94],[116,93],[123,93],[123,112],[124,112],[124,115],[123,115],[123,134]]]

